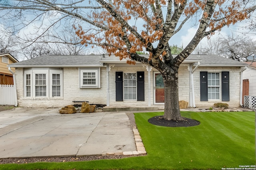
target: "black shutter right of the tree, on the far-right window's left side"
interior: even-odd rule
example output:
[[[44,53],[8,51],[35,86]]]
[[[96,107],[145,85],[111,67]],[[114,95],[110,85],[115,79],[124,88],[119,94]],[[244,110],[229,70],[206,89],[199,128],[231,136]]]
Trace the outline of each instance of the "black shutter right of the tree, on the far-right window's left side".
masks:
[[[208,72],[200,72],[200,100],[208,101]]]

